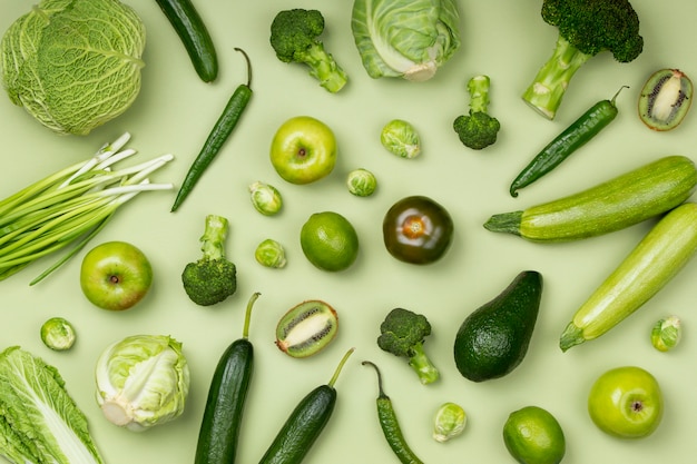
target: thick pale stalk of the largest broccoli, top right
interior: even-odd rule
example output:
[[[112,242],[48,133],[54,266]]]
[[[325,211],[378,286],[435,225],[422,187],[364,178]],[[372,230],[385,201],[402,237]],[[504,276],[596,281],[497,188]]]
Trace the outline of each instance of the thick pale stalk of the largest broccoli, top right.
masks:
[[[523,92],[523,101],[547,119],[554,119],[571,78],[591,57],[559,36],[552,56]]]

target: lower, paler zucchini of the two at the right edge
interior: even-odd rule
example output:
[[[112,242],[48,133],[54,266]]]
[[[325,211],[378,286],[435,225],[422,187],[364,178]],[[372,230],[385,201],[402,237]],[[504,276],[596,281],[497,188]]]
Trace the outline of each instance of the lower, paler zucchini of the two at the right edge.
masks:
[[[559,346],[595,339],[654,297],[697,251],[697,204],[670,210],[583,303]]]

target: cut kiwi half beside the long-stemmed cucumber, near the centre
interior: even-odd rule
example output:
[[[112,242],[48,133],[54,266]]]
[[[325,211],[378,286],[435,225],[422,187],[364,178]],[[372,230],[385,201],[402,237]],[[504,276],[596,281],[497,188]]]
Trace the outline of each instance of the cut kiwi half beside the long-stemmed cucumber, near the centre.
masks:
[[[334,308],[320,299],[308,299],[278,320],[276,346],[288,356],[312,356],[334,339],[337,329]]]

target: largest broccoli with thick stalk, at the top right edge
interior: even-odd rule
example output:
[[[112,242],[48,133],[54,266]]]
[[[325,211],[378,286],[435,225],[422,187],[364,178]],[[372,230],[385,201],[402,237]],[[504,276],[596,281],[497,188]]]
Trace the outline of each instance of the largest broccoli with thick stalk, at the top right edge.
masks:
[[[550,59],[522,98],[553,119],[569,81],[590,58],[601,51],[629,62],[644,49],[639,17],[628,0],[544,0],[542,19],[559,30]]]

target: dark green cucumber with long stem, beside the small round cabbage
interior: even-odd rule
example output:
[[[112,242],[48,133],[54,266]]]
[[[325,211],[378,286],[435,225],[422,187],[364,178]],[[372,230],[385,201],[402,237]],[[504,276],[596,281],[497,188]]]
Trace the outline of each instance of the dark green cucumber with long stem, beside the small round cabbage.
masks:
[[[249,342],[252,307],[247,303],[242,338],[233,342],[220,356],[210,381],[200,423],[194,464],[234,464],[237,456],[242,418],[254,372],[254,346]]]

